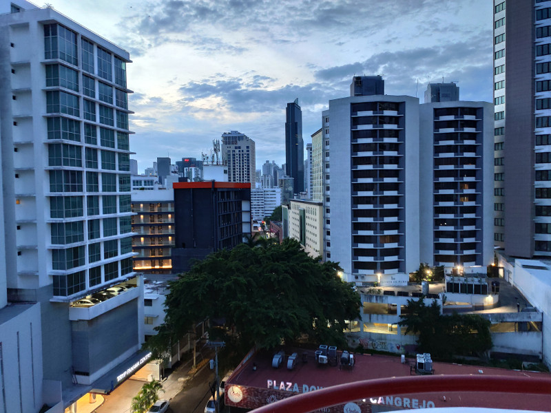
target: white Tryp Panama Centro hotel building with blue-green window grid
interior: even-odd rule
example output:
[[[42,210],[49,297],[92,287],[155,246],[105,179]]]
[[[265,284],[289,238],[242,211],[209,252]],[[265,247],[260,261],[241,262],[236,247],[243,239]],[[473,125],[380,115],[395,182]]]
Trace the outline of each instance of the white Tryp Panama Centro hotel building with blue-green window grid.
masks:
[[[21,360],[0,374],[8,390],[0,412],[37,412],[43,403],[63,410],[105,385],[98,379],[116,366],[132,366],[143,341],[143,286],[132,269],[129,54],[24,0],[0,5],[0,39],[0,306],[7,295],[3,310],[23,317],[0,334],[3,362]],[[121,283],[116,296],[79,303]],[[25,318],[21,302],[39,303],[39,319]],[[119,383],[114,374],[104,389]]]

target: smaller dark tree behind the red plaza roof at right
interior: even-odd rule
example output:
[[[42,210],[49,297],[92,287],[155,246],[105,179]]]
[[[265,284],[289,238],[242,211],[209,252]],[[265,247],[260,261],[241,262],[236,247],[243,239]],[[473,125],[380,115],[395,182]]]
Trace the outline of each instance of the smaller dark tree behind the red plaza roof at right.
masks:
[[[400,318],[398,324],[407,326],[406,334],[419,335],[419,351],[433,357],[481,355],[492,348],[490,321],[476,314],[441,315],[437,301],[427,306],[424,297],[409,299]]]

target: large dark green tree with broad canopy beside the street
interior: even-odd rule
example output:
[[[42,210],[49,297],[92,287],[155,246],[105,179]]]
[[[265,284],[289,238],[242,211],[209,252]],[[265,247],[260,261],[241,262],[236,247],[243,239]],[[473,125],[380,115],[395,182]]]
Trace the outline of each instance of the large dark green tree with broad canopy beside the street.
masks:
[[[360,315],[360,297],[341,281],[339,269],[310,257],[292,239],[213,253],[171,283],[165,323],[147,346],[162,354],[171,339],[207,317],[225,319],[245,347],[297,339],[342,346],[345,320]]]

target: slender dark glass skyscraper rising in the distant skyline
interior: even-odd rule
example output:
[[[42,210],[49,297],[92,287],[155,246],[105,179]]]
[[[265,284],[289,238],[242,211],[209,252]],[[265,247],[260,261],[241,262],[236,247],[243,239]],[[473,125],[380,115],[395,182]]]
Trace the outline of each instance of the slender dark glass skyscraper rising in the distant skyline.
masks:
[[[287,176],[293,178],[294,193],[304,192],[304,141],[302,140],[302,110],[298,98],[287,103],[285,121],[285,165]]]

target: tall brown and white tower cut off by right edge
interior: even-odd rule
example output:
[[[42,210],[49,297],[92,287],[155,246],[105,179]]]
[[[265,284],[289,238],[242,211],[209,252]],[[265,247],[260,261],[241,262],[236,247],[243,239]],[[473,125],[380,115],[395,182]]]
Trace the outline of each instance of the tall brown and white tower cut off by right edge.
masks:
[[[494,2],[495,239],[551,255],[551,3]]]

